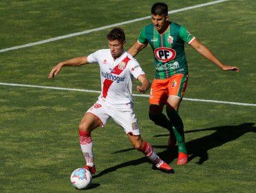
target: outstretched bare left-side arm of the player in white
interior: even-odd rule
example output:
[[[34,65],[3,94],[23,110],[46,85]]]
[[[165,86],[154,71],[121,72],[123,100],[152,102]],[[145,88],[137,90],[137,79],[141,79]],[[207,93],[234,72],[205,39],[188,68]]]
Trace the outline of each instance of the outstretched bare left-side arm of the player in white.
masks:
[[[53,67],[53,69],[49,74],[48,79],[53,79],[54,76],[57,75],[60,72],[60,70],[62,70],[63,66],[80,66],[86,63],[89,63],[87,60],[87,57],[77,57],[77,58],[69,59],[67,61],[62,61],[57,65],[55,65],[55,67]]]

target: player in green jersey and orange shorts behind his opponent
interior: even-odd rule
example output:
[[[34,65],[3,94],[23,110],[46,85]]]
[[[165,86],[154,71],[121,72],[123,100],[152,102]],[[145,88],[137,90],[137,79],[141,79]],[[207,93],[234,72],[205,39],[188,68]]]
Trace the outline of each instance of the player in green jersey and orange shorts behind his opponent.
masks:
[[[152,23],[140,32],[138,41],[128,52],[136,56],[149,44],[154,54],[155,78],[149,96],[149,119],[156,125],[170,131],[168,147],[172,148],[178,141],[178,165],[188,162],[188,152],[185,147],[183,121],[179,116],[179,106],[188,83],[188,64],[185,59],[184,44],[191,45],[199,54],[212,61],[222,70],[239,72],[236,66],[224,65],[214,54],[186,28],[169,21],[168,7],[165,3],[155,3],[152,6]],[[166,114],[163,107],[166,105]]]

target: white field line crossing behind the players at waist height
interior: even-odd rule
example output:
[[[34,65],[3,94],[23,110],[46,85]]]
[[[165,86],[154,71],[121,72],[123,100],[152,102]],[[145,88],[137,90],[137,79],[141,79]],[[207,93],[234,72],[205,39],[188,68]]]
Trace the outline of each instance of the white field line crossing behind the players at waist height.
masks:
[[[0,83],[0,85],[8,85],[8,86],[19,86],[19,87],[27,87],[27,88],[44,88],[44,89],[53,89],[53,90],[68,90],[68,91],[77,91],[77,92],[96,92],[100,93],[97,90],[84,90],[84,89],[76,89],[76,88],[60,88],[60,87],[51,87],[51,86],[42,86],[42,85],[25,85],[25,84],[16,84],[16,83]],[[147,94],[133,94],[133,96],[144,96],[149,97]],[[183,98],[185,101],[199,101],[199,102],[207,102],[207,103],[224,103],[230,105],[243,105],[243,106],[256,106],[256,104],[250,103],[235,103],[229,101],[214,101],[214,100],[205,100],[205,99],[188,99]]]

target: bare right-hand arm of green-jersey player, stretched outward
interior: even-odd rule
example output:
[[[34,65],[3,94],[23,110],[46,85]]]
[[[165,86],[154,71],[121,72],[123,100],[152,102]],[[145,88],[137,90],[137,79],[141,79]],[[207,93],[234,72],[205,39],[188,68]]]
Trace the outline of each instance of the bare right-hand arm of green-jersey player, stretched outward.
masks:
[[[214,56],[214,54],[210,51],[210,49],[207,48],[202,43],[199,43],[199,41],[197,39],[194,39],[194,41],[192,41],[192,43],[190,43],[190,45],[197,52],[199,52],[199,54],[201,54],[206,59],[212,61],[215,65],[217,65],[222,70],[224,70],[224,71],[226,71],[226,70],[234,70],[236,72],[239,72],[239,68],[237,68],[236,66],[224,65],[223,63],[221,63],[221,61],[219,61],[219,59],[217,59],[217,57]]]

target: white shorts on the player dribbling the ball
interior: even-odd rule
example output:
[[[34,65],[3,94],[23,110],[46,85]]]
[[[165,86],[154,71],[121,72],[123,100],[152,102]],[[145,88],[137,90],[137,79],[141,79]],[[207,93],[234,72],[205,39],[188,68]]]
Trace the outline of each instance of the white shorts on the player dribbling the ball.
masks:
[[[140,135],[138,121],[132,108],[118,109],[97,101],[86,113],[88,112],[97,116],[102,121],[102,126],[106,125],[109,118],[112,118],[125,130],[126,134]]]

